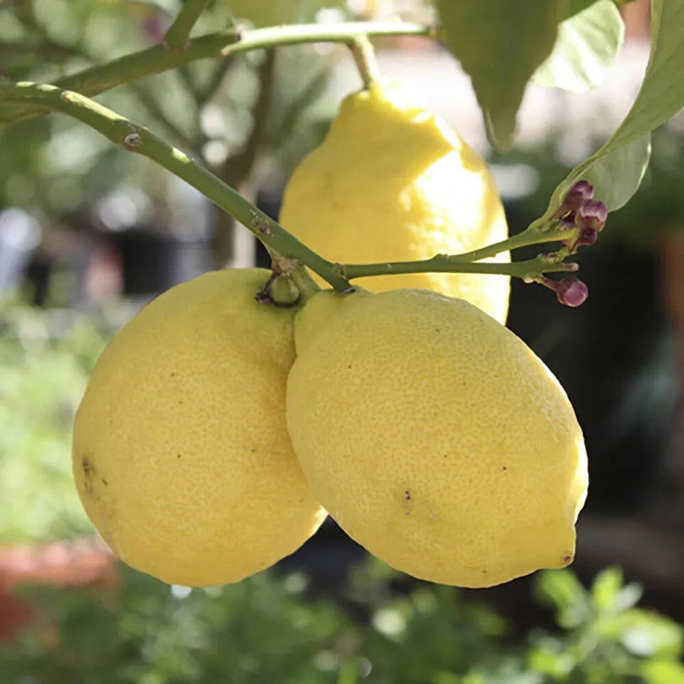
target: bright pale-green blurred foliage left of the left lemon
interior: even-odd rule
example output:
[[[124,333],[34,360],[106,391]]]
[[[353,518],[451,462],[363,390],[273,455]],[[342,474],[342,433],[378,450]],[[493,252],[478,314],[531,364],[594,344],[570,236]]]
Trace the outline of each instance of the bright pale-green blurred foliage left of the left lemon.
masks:
[[[0,305],[1,541],[92,530],[73,486],[71,420],[104,340],[85,316]]]

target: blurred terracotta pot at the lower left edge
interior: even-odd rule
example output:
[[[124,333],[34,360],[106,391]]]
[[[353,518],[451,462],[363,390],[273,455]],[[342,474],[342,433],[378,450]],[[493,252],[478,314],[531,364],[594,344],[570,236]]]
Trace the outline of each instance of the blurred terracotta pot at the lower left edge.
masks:
[[[17,596],[19,586],[112,589],[117,583],[116,559],[94,537],[0,546],[0,641],[11,641],[39,613],[39,606]]]

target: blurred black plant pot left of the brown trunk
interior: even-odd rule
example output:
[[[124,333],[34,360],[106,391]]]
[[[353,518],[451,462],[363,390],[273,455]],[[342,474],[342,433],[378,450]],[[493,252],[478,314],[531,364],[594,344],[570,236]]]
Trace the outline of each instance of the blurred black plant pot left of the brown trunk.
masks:
[[[163,292],[211,268],[211,243],[133,227],[115,235],[125,295]]]

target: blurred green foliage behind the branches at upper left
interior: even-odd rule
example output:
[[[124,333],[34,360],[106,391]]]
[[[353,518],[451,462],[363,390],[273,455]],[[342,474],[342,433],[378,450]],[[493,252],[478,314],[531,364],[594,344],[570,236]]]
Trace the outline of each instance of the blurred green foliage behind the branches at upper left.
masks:
[[[339,3],[304,2],[309,12],[301,19],[311,20],[321,4]],[[160,41],[178,7],[180,2],[173,0],[0,4],[2,71],[12,81],[52,83],[150,48]],[[233,22],[229,3],[215,0],[196,32],[221,31]],[[266,180],[277,185],[321,140],[336,108],[326,93],[338,54],[323,54],[314,46],[279,51],[275,73],[265,86],[263,51],[203,60],[119,86],[97,100],[147,126],[221,177],[237,173],[242,182],[254,174],[257,185]],[[266,110],[259,110],[261,86],[270,93]],[[250,140],[255,130],[257,140]],[[118,189],[145,192],[160,204],[172,204],[177,193],[165,170],[124,154],[87,126],[60,115],[0,128],[0,149],[0,207],[27,209],[46,227]],[[157,218],[163,222],[167,217],[161,214]]]

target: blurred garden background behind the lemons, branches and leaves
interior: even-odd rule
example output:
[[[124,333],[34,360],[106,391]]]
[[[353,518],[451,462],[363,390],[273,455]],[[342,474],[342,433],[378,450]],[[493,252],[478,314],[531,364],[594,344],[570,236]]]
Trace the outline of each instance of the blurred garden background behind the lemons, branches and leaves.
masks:
[[[265,18],[230,4],[257,22],[433,19],[427,0],[271,3]],[[55,81],[153,45],[178,6],[0,2],[0,70]],[[380,66],[489,160],[519,232],[636,95],[648,2],[621,12],[626,42],[601,86],[529,86],[503,157],[437,43],[377,41]],[[197,31],[232,20],[217,1]],[[344,48],[318,45],[193,63],[98,100],[277,217],[295,165],[360,86]],[[641,190],[579,254],[586,304],[513,283],[509,327],[586,433],[591,490],[571,570],[436,586],[373,561],[328,520],[272,571],[190,591],[115,564],[95,538],[71,478],[71,421],[98,354],[142,304],[207,269],[268,266],[266,254],[195,190],[80,123],[0,128],[0,682],[684,682],[683,182],[679,116],[653,134]]]

